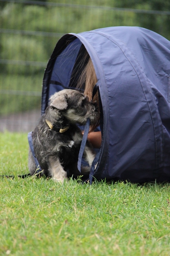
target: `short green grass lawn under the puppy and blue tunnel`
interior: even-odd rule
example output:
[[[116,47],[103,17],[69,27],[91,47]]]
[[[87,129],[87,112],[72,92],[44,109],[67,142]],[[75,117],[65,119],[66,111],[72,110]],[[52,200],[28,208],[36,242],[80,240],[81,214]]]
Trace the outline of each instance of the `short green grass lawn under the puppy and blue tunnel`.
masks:
[[[27,151],[0,133],[0,174],[27,173]],[[0,183],[0,255],[170,255],[169,184]]]

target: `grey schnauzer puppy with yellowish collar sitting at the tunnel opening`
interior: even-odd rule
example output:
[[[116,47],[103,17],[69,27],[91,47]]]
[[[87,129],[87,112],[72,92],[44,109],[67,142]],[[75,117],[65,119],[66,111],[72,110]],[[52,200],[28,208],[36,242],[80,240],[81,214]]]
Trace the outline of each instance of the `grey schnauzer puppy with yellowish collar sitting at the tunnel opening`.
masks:
[[[78,171],[78,154],[82,132],[77,124],[84,125],[87,118],[96,124],[99,112],[96,103],[76,90],[64,89],[50,97],[45,114],[32,133],[35,156],[43,170],[41,176],[51,177],[63,182],[67,177],[87,174],[90,168]],[[87,141],[84,151],[85,160],[91,166],[95,157]],[[35,161],[29,148],[28,166],[31,175],[36,172]]]

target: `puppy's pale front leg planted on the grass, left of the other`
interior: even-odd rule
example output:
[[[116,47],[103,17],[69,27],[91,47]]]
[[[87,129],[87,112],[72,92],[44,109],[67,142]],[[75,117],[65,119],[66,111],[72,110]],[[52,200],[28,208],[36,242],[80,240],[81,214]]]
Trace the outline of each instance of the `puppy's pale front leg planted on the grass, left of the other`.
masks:
[[[67,172],[64,171],[63,166],[60,164],[58,157],[50,156],[49,163],[49,172],[51,173],[52,178],[55,181],[61,181],[63,183],[64,180],[67,178]]]

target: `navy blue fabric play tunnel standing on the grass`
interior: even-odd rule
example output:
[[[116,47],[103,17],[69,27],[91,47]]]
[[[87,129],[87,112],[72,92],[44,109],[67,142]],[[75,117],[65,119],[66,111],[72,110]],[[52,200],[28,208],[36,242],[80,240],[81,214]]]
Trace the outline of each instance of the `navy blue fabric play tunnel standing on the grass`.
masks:
[[[102,113],[90,177],[170,181],[170,42],[139,27],[64,35],[45,70],[42,114],[51,94],[75,89],[70,80],[82,45],[95,68]]]

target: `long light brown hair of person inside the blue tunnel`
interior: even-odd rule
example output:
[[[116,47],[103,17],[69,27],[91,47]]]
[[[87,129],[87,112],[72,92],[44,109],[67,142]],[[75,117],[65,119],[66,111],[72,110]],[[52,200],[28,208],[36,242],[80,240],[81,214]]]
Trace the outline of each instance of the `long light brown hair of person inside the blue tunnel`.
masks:
[[[87,55],[89,54],[86,52],[85,53],[85,58],[87,58]],[[78,84],[77,84],[77,89],[84,87],[84,94],[88,97],[88,99],[91,101],[92,100],[92,92],[95,84],[97,83],[97,77],[96,73],[94,70],[94,66],[92,63],[92,60],[89,56],[89,60],[82,71],[79,79],[78,79]],[[98,92],[94,95],[93,102],[97,103],[98,109],[99,109],[99,97],[98,97]],[[100,124],[100,119],[98,122],[90,127],[90,132],[92,132],[98,125]]]

